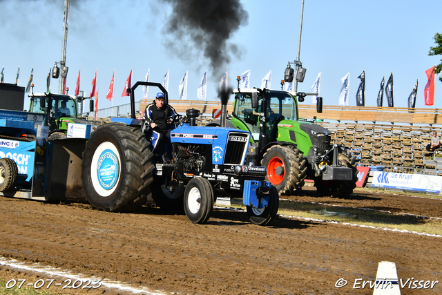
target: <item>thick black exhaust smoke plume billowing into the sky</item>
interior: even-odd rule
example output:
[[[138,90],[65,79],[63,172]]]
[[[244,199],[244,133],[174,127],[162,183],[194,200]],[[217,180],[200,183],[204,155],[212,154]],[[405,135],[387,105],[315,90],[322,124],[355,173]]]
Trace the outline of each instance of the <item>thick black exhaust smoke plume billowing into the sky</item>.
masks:
[[[249,15],[240,0],[162,0],[173,12],[166,21],[166,32],[173,35],[166,45],[181,58],[195,60],[201,53],[210,61],[213,77],[220,77],[238,55],[238,47],[228,40]],[[189,42],[190,41],[190,42]]]

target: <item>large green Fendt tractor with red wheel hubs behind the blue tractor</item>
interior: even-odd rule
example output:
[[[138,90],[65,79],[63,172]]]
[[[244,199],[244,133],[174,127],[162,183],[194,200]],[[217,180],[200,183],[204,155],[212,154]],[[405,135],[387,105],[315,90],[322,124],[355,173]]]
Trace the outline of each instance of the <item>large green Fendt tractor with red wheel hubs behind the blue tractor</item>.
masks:
[[[233,94],[227,126],[251,132],[247,162],[267,167],[267,179],[280,195],[300,190],[305,178],[314,180],[322,196],[352,193],[356,159],[344,146],[330,144],[330,132],[316,120],[300,119],[296,97],[303,102],[306,93],[238,88]],[[321,97],[317,111],[322,112]]]

